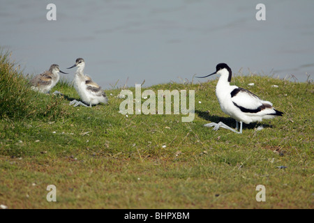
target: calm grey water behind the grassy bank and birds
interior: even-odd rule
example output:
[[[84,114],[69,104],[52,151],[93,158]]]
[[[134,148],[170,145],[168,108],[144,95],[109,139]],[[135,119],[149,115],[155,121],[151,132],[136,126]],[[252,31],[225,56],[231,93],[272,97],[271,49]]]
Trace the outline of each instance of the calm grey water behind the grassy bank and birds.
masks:
[[[57,21],[46,19],[48,3]],[[257,3],[266,21],[255,19]],[[313,0],[0,0],[0,46],[29,74],[52,63],[67,72],[82,57],[104,89],[128,77],[128,86],[190,80],[220,62],[305,82],[314,70],[313,9]]]

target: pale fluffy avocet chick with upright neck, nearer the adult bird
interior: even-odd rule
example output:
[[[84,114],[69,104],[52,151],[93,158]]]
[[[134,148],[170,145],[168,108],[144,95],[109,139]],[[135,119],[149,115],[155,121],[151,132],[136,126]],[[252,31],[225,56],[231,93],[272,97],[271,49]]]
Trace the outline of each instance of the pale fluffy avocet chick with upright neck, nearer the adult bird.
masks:
[[[91,105],[98,105],[99,103],[107,104],[108,98],[101,89],[101,87],[91,80],[91,77],[84,75],[85,61],[82,58],[77,58],[75,64],[70,68],[77,67],[74,77],[74,87],[77,93],[80,95],[80,98],[84,102],[73,100],[70,102],[70,105],[77,107],[82,105],[84,107],[91,107]],[[67,69],[70,69],[67,68]]]

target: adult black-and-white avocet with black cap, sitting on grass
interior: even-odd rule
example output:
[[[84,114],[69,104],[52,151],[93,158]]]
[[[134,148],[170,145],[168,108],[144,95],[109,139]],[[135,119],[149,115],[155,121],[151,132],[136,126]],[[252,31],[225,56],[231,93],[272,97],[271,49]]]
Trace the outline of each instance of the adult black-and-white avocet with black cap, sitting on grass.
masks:
[[[262,121],[263,118],[268,119],[276,116],[283,116],[283,112],[274,109],[271,102],[261,100],[257,95],[246,89],[239,88],[238,86],[230,86],[232,71],[227,64],[219,63],[216,66],[216,72],[204,77],[209,77],[215,74],[220,75],[216,86],[216,96],[220,108],[225,114],[236,120],[236,128],[238,131],[230,128],[222,122],[208,123],[204,126],[214,127],[214,130],[218,130],[221,127],[227,130],[232,130],[232,132],[242,133],[243,122],[249,124]],[[240,130],[238,122],[240,122]]]

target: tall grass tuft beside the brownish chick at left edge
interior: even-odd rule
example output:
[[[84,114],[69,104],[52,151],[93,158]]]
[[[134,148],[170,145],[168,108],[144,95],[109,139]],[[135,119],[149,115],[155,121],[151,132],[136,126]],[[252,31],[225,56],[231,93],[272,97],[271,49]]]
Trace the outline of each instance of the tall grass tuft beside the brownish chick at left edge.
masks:
[[[0,48],[0,118],[39,118],[53,120],[65,115],[61,99],[31,91],[19,66],[10,61],[10,53]]]

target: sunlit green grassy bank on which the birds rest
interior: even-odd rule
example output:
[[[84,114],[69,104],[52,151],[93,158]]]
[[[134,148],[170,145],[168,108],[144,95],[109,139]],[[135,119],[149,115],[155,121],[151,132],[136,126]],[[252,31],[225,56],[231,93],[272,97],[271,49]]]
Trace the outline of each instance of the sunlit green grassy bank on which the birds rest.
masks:
[[[119,114],[121,89],[106,91],[108,105],[70,107],[79,99],[73,86],[52,89],[66,97],[33,93],[1,59],[0,204],[8,208],[313,208],[312,83],[234,77],[285,113],[234,134],[203,126],[235,125],[220,110],[217,80],[142,87],[195,90],[195,120],[182,123],[181,115]],[[10,75],[18,81],[8,91]],[[47,202],[47,185],[56,185],[57,202]],[[257,185],[266,202],[255,200]]]

